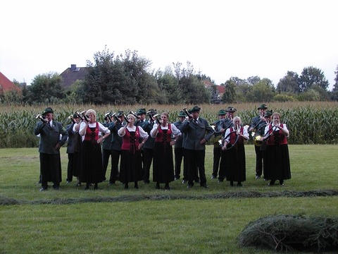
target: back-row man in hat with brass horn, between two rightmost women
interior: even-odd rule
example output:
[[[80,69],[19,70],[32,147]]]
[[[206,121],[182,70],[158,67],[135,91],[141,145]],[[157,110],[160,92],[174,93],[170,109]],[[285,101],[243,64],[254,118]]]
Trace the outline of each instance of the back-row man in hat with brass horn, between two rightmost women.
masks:
[[[249,127],[249,133],[252,133],[253,131],[257,132],[260,128],[263,128],[262,126],[265,125],[265,119],[264,114],[266,109],[268,109],[268,106],[266,104],[261,104],[258,106],[258,116],[253,117],[251,120],[251,124]],[[255,145],[255,152],[256,152],[256,179],[260,179],[262,175],[262,169],[263,169],[263,153],[261,151],[261,148],[257,145]]]

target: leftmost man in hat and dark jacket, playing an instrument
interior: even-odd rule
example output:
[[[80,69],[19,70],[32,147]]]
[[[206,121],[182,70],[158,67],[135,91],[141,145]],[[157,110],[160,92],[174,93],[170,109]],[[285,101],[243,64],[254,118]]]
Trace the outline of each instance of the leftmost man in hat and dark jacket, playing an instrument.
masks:
[[[65,144],[68,133],[60,122],[54,121],[54,111],[50,107],[42,112],[42,116],[44,119],[34,129],[34,134],[40,135],[40,191],[47,190],[49,181],[53,181],[53,188],[58,190],[61,182],[60,148]]]

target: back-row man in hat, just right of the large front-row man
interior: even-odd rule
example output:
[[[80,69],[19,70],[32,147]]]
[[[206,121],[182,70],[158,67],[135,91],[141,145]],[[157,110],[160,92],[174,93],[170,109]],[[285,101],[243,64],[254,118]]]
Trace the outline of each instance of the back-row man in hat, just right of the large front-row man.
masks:
[[[218,176],[218,169],[220,167],[220,153],[222,152],[219,140],[222,138],[222,133],[218,131],[218,127],[225,121],[225,115],[227,112],[224,109],[218,111],[218,120],[214,121],[212,126],[215,131],[215,138],[213,142],[213,174],[211,179],[216,179]]]

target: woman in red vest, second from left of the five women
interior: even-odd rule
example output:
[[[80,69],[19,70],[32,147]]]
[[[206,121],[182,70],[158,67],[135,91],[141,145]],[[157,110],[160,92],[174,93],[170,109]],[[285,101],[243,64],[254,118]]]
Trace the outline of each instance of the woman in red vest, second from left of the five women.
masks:
[[[129,188],[130,182],[134,182],[134,188],[139,188],[137,182],[143,180],[141,148],[149,135],[141,126],[134,126],[136,117],[133,114],[129,114],[126,120],[127,124],[118,130],[122,137],[119,180],[125,183],[125,189]]]

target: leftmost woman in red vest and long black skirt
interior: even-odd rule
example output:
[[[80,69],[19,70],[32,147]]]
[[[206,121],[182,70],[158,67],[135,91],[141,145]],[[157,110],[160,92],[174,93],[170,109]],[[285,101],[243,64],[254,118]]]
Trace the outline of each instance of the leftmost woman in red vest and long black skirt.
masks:
[[[85,190],[94,183],[94,190],[98,189],[98,183],[104,181],[104,168],[102,166],[101,142],[111,135],[111,131],[96,121],[96,111],[88,109],[86,116],[89,121],[82,120],[79,133],[82,136],[82,166],[80,182],[86,183]],[[103,133],[99,137],[99,132]]]

